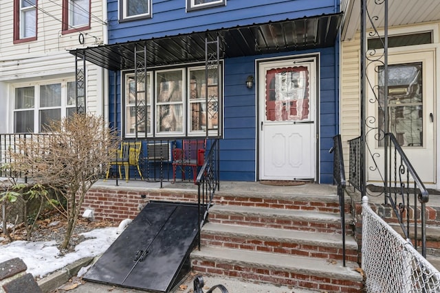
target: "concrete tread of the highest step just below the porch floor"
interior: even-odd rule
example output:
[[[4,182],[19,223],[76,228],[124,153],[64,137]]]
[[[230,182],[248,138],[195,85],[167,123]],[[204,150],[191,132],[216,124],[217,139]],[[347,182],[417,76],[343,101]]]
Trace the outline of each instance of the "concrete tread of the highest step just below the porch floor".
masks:
[[[292,220],[306,220],[313,222],[340,222],[339,213],[323,213],[318,211],[300,211],[297,209],[270,209],[264,207],[241,207],[241,206],[223,206],[214,204],[210,208],[210,213],[217,215],[241,215],[248,217],[264,218],[283,218]],[[350,224],[353,218],[350,214],[345,215],[345,223]]]

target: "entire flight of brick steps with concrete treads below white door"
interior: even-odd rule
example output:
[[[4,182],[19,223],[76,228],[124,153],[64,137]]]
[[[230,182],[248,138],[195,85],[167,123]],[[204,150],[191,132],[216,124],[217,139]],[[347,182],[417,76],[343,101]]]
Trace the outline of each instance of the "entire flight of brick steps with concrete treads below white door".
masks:
[[[336,189],[222,190],[201,230],[201,250],[191,254],[193,271],[319,292],[362,292],[349,199],[342,266]]]

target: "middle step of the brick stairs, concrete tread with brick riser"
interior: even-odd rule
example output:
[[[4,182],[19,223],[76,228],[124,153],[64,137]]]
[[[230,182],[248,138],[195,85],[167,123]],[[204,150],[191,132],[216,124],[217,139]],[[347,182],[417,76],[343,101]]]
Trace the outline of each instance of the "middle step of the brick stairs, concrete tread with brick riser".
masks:
[[[201,244],[266,253],[285,253],[303,257],[342,260],[342,235],[303,231],[285,231],[278,228],[207,223],[202,228]],[[358,244],[353,236],[346,237],[346,257],[358,260]]]

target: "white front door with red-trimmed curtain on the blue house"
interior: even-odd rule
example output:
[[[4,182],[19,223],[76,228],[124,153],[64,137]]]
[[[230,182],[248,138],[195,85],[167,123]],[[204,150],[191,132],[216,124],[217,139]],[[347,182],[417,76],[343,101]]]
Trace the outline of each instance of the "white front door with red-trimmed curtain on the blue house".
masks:
[[[259,63],[261,180],[316,179],[316,62]]]

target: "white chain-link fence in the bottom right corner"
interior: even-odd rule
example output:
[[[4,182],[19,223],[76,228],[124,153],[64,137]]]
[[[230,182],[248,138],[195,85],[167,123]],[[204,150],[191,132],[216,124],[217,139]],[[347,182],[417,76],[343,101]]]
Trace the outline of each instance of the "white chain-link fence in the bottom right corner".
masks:
[[[440,292],[440,272],[362,198],[365,292]]]

